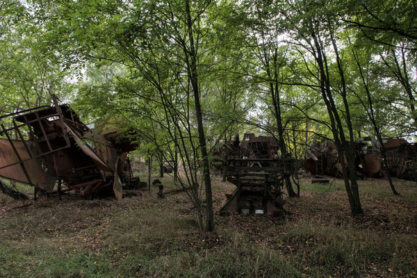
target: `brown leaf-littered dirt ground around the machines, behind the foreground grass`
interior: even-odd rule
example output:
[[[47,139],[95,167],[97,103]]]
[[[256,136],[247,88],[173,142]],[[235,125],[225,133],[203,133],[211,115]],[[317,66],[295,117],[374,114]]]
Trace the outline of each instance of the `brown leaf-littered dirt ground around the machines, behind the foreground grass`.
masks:
[[[342,181],[313,185],[309,179],[304,179],[301,184],[300,197],[287,198],[285,207],[291,214],[285,218],[243,214],[224,217],[220,216],[219,211],[226,201],[225,193],[231,193],[234,186],[216,178],[213,184],[216,232],[204,234],[203,240],[201,236],[190,237],[187,240],[190,248],[193,250],[222,248],[225,240],[222,238],[222,231],[225,230],[237,231],[250,243],[268,250],[276,250],[282,256],[299,254],[308,257],[311,254],[306,252],[310,252],[313,244],[326,245],[327,243],[322,240],[338,240],[332,238],[330,235],[332,231],[329,231],[330,234],[325,234],[326,227],[342,230],[340,233],[343,233],[343,229],[352,231],[353,238],[354,236],[366,238],[369,236],[366,233],[370,233],[386,238],[405,236],[417,239],[416,183],[395,181],[401,195],[394,196],[384,180],[360,181],[364,215],[350,213]],[[158,200],[156,188],[152,188],[151,192],[126,191],[122,202],[117,202],[114,198],[87,201],[76,195],[65,195],[62,200],[56,197],[42,197],[37,202],[30,200],[22,203],[3,196],[0,198],[0,223],[3,222],[0,239],[24,243],[26,238],[46,234],[57,240],[59,238],[65,238],[67,241],[81,240],[90,250],[100,252],[105,245],[100,235],[110,227],[115,213],[127,217],[129,212],[141,208],[154,211],[169,208],[173,215],[179,217],[195,215],[195,208],[185,193]],[[309,225],[313,228],[309,228],[304,234],[301,232],[297,234],[300,229],[307,229]],[[411,261],[416,261],[416,253],[409,256]],[[320,262],[313,260],[311,265],[320,265]],[[343,270],[336,268],[339,266],[336,265],[333,275],[344,277]],[[394,274],[391,265],[388,263],[384,265],[384,261],[379,262],[379,265],[378,262],[369,263],[363,273],[368,277],[414,277],[415,275],[413,270],[401,269]]]

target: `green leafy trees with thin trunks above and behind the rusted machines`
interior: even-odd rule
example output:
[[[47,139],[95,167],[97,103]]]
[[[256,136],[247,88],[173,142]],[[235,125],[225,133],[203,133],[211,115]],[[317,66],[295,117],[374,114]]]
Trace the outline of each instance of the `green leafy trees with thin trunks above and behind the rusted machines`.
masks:
[[[416,15],[415,1],[4,0],[1,104],[53,92],[84,122],[138,131],[140,154],[179,161],[179,184],[205,188],[206,231],[220,140],[255,131],[301,159],[329,138],[361,214],[353,142],[414,141]]]

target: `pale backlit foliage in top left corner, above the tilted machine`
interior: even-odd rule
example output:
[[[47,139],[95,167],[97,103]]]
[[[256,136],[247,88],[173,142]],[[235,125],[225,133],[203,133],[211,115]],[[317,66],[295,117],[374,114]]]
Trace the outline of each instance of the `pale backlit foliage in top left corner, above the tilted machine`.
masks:
[[[70,97],[74,85],[68,82],[56,53],[40,41],[42,22],[33,10],[19,1],[3,1],[0,8],[0,92],[5,111],[49,104],[49,90],[58,96]]]

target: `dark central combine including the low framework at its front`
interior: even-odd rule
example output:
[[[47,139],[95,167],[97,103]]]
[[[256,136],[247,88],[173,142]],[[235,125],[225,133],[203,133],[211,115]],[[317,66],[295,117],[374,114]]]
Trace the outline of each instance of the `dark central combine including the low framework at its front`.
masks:
[[[245,133],[240,142],[236,134],[227,147],[227,152],[219,152],[222,155],[219,160],[226,163],[221,169],[226,171],[227,181],[233,183],[236,190],[226,195],[227,202],[221,213],[286,213],[283,181],[291,173],[291,159],[277,158],[277,140]]]

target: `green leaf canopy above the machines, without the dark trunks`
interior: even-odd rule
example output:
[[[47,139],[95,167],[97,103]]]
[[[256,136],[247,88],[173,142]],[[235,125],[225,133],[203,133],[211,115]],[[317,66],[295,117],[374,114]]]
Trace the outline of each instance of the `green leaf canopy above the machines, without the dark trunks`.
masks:
[[[360,65],[372,81],[369,85],[375,93],[375,111],[383,133],[401,136],[414,129],[412,125],[410,131],[407,118],[416,118],[410,113],[414,101],[403,81],[407,74],[414,95],[416,79],[410,73],[416,58],[415,3],[206,4],[193,2],[192,10],[194,16],[198,10],[204,11],[199,14],[196,35],[199,51],[204,54],[199,56],[199,80],[206,131],[213,134],[211,138],[218,139],[224,129],[228,137],[245,129],[248,115],[256,113],[263,117],[253,117],[252,123],[277,133],[272,99],[267,93],[271,79],[268,71],[273,72],[274,60],[279,65],[274,80],[281,92],[284,131],[289,132],[288,122],[315,120],[320,123],[316,131],[332,137],[323,129],[329,118],[316,88],[309,42],[297,44],[311,30],[326,32],[331,25],[343,57],[354,129],[373,133],[358,101],[358,97],[364,102],[366,98],[353,52],[360,54]],[[0,64],[3,95],[11,104],[24,100],[28,106],[36,97],[47,96],[47,88],[51,88],[63,99],[76,96],[76,108],[91,120],[129,117],[131,121],[131,114],[145,114],[135,121],[140,126],[149,117],[158,117],[163,111],[152,113],[163,105],[155,98],[158,91],[177,95],[177,101],[186,97],[179,92],[188,82],[181,54],[181,45],[187,42],[181,5],[179,1],[169,5],[158,1],[30,1],[26,6],[18,1],[5,2],[0,27],[0,51],[7,57]],[[329,37],[322,39],[324,45],[330,43]],[[407,73],[402,77],[398,76],[395,59],[400,70],[402,62],[406,65]],[[336,104],[344,114],[336,64],[328,70]],[[77,92],[67,77],[70,73],[81,81]],[[193,108],[193,101],[182,106],[187,107]]]

